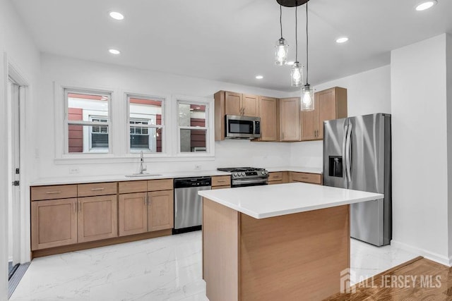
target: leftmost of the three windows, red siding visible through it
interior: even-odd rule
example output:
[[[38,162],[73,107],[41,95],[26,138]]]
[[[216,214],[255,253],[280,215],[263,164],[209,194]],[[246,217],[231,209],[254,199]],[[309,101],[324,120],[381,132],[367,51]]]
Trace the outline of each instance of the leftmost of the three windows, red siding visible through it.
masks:
[[[64,90],[66,101],[66,153],[110,152],[111,94]]]

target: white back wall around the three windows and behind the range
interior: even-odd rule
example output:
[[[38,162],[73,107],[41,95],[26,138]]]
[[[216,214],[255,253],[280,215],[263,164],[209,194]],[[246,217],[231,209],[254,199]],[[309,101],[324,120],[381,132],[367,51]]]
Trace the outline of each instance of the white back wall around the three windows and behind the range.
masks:
[[[59,126],[54,124],[54,81],[60,85],[75,87],[112,87],[138,94],[153,92],[157,95],[163,94],[163,96],[182,94],[193,97],[210,97],[211,99],[218,90],[270,97],[288,97],[290,95],[285,92],[233,85],[227,82],[155,73],[136,68],[69,59],[52,54],[42,54],[41,66],[40,107],[36,111],[39,128],[34,131],[34,135],[39,140],[37,153],[40,156],[40,164],[37,178],[69,176],[69,168],[71,168],[71,165],[61,164],[61,162],[56,164],[54,161],[54,127]],[[61,102],[63,101],[64,99],[61,99]],[[81,164],[78,166],[80,173],[76,176],[133,173],[138,168],[138,159],[136,162]],[[203,170],[215,169],[219,166],[280,166],[290,163],[290,145],[238,140],[215,142],[215,160],[162,162],[146,159],[146,162],[148,170],[151,172],[194,170],[195,165],[200,165]]]

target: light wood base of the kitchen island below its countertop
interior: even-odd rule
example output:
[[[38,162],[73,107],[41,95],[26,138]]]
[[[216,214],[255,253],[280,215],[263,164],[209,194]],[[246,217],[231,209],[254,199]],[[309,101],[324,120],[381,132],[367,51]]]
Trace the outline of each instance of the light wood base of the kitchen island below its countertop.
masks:
[[[203,275],[217,300],[322,300],[350,267],[348,205],[254,219],[204,198]]]

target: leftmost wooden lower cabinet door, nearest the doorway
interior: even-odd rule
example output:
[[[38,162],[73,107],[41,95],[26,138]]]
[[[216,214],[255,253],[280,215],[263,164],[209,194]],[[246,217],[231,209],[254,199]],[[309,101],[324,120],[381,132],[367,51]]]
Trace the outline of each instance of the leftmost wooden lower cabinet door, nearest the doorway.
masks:
[[[77,199],[31,203],[31,250],[77,242]]]

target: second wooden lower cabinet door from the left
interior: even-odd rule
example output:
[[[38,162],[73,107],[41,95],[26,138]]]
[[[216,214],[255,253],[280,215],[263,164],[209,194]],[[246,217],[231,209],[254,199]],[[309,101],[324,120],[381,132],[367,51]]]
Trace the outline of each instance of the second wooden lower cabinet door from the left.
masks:
[[[116,238],[117,195],[78,198],[78,242]]]

